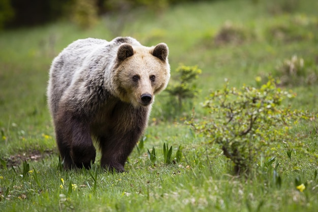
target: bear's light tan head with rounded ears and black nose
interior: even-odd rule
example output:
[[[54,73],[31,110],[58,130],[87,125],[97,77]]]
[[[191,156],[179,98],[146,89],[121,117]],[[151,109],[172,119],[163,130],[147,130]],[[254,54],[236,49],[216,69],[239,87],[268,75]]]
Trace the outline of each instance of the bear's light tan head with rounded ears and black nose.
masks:
[[[168,46],[161,43],[155,47],[133,47],[123,43],[118,48],[113,71],[118,98],[135,107],[148,106],[170,79]]]

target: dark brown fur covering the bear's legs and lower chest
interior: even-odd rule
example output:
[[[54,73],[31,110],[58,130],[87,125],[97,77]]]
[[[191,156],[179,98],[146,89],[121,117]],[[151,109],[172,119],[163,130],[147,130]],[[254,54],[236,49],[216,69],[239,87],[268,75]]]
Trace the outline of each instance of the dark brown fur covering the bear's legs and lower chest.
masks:
[[[59,108],[54,120],[55,132],[65,168],[90,168],[96,157],[93,135],[101,147],[101,166],[124,171],[124,163],[146,127],[148,109],[143,106],[134,108],[119,100],[113,102],[117,102],[113,107],[101,106],[91,119],[68,111],[63,106]],[[104,123],[104,120],[108,122]],[[122,120],[130,122],[123,123]]]

